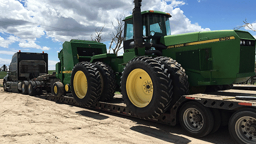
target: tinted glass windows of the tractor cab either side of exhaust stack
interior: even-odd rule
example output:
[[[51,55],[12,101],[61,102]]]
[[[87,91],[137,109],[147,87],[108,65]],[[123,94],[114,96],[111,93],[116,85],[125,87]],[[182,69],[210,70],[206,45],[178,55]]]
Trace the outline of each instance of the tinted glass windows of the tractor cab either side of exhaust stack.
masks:
[[[143,36],[171,35],[169,18],[164,15],[143,15]],[[133,39],[132,19],[125,21],[124,41]]]

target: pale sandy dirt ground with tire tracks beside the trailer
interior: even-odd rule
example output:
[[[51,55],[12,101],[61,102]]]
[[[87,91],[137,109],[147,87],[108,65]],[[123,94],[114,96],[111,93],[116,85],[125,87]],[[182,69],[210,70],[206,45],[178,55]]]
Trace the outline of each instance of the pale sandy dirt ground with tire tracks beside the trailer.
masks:
[[[2,80],[0,80],[2,83]],[[4,92],[0,87],[1,144],[234,144],[228,127],[192,138],[170,126],[100,110]]]

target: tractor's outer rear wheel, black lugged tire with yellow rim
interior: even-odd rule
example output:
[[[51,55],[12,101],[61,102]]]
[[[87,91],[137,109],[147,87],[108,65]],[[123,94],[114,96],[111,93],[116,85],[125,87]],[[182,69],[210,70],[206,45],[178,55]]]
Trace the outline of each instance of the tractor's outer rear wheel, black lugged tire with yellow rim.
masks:
[[[70,85],[73,98],[82,106],[91,106],[100,98],[100,72],[89,62],[79,62],[74,66]]]

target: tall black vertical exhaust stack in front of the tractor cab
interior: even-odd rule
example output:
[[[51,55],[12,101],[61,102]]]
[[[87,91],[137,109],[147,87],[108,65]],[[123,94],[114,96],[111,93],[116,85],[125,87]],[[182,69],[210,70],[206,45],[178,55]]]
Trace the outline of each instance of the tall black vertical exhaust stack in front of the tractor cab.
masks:
[[[141,1],[134,0],[134,9],[132,10],[133,20],[133,37],[135,47],[142,48],[143,46],[143,35],[142,35],[142,17],[141,17]]]

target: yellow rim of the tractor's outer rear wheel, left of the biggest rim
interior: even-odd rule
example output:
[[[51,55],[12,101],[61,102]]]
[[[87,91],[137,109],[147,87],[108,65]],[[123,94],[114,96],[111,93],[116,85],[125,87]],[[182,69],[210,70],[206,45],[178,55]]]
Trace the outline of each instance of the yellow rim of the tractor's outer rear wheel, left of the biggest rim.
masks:
[[[87,93],[87,79],[82,71],[77,71],[74,76],[74,91],[79,99],[83,99]]]

